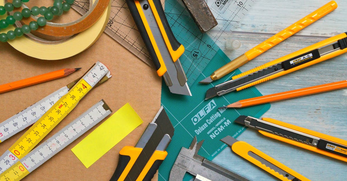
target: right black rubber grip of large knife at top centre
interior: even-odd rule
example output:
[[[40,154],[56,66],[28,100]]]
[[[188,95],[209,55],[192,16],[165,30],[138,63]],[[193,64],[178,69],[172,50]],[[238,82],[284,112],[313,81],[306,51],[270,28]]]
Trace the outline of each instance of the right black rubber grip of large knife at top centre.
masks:
[[[149,0],[149,1],[151,1],[151,0]],[[158,15],[160,17],[161,23],[164,26],[165,32],[168,35],[172,49],[176,51],[181,46],[181,44],[177,41],[174,33],[172,33],[172,30],[171,30],[170,25],[168,23],[168,19],[166,19],[163,7],[161,6],[161,2],[160,2],[160,0],[153,0],[153,3],[154,3],[156,11],[158,11]]]

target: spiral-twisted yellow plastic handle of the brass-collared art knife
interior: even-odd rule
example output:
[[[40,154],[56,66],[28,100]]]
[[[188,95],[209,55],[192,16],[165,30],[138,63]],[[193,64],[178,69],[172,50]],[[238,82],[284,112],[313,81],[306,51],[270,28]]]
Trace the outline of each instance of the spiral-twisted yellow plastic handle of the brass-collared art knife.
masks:
[[[288,26],[287,28],[283,29],[282,31],[278,32],[276,35],[273,35],[268,40],[265,40],[264,42],[255,46],[251,50],[248,50],[245,53],[246,57],[248,58],[248,60],[254,59],[258,55],[264,53],[266,50],[269,50],[271,47],[277,45],[278,43],[282,42],[283,40],[286,40],[291,35],[294,35],[298,31],[305,28],[306,26],[311,25],[313,22],[315,22],[316,20],[320,19],[321,17],[327,15],[329,12],[335,10],[336,8],[337,8],[337,3],[335,1],[328,2],[324,6],[313,11],[311,14],[296,21],[296,23],[294,23],[294,24]]]

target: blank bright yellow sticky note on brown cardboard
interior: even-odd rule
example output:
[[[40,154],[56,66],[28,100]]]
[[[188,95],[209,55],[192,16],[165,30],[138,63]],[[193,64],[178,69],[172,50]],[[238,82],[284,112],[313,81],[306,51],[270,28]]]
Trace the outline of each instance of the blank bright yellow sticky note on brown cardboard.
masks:
[[[127,103],[71,151],[88,168],[142,123],[142,119]]]

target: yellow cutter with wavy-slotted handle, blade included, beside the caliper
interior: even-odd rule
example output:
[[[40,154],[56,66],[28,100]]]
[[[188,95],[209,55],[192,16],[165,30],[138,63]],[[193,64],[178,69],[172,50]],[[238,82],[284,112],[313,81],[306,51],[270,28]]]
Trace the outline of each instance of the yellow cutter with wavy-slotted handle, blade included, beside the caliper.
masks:
[[[222,138],[221,141],[231,147],[231,150],[236,154],[242,156],[249,162],[252,162],[261,169],[269,172],[273,176],[283,181],[306,181],[308,180],[301,174],[290,169],[286,165],[278,162],[277,160],[271,158],[265,153],[261,152],[259,149],[254,148],[252,145],[244,141],[238,141],[237,139],[226,136]]]

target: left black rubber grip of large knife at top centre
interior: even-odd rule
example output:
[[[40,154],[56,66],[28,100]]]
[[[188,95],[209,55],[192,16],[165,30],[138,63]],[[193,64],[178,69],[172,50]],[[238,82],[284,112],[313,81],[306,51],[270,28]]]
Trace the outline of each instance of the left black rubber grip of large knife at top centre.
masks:
[[[146,45],[146,48],[148,50],[148,53],[150,54],[152,61],[154,63],[155,68],[158,70],[160,68],[160,62],[158,60],[158,57],[155,54],[154,48],[152,46],[151,40],[147,34],[145,25],[142,22],[142,19],[140,17],[140,14],[137,11],[136,5],[134,0],[125,0],[125,2],[127,3],[129,10],[134,18],[135,24],[137,26],[138,31],[141,34],[141,37],[143,39],[143,42]],[[143,9],[143,7],[142,7]]]

